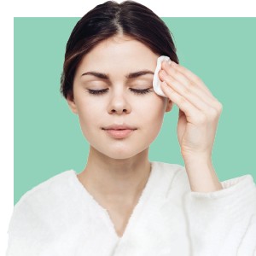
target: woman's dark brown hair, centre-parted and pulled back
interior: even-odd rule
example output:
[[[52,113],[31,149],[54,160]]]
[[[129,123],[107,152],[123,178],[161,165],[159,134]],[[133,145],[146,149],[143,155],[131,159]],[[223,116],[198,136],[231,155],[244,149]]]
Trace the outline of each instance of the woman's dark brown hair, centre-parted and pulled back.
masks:
[[[151,9],[141,3],[108,1],[97,5],[74,26],[67,41],[61,94],[73,99],[73,78],[83,56],[102,40],[124,34],[147,45],[157,55],[178,63],[171,32]]]

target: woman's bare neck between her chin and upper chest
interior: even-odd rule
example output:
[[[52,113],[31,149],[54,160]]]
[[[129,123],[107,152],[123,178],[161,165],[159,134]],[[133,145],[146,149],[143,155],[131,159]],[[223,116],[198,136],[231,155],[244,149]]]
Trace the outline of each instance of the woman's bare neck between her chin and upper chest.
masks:
[[[87,165],[78,177],[97,201],[132,204],[141,195],[150,171],[148,148],[129,159],[117,160],[91,147]]]

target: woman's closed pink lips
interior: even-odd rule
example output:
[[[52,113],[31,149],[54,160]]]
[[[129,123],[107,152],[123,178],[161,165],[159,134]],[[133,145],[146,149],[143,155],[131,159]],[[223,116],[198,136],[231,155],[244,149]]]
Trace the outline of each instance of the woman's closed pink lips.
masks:
[[[109,125],[102,128],[102,130],[106,131],[109,137],[121,139],[131,136],[133,131],[136,131],[137,128],[130,125]]]

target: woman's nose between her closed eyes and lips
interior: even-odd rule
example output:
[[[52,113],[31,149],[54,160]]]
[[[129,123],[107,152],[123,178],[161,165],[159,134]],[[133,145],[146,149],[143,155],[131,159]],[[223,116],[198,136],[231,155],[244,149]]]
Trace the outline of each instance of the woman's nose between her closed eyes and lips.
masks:
[[[108,113],[131,113],[131,105],[127,100],[124,90],[112,91],[108,104]]]

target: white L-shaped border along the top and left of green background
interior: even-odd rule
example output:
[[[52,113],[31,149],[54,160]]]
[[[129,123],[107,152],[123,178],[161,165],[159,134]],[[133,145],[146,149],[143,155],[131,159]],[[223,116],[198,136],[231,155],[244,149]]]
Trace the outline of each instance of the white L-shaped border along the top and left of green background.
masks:
[[[90,2],[90,3],[89,3]],[[88,10],[105,1],[86,0],[16,0],[3,6],[0,14],[1,26],[1,100],[0,100],[0,255],[5,255],[7,229],[13,211],[14,170],[14,17],[81,17]],[[118,3],[122,1],[117,0]],[[138,0],[160,17],[254,17],[254,0]]]

